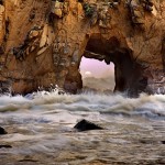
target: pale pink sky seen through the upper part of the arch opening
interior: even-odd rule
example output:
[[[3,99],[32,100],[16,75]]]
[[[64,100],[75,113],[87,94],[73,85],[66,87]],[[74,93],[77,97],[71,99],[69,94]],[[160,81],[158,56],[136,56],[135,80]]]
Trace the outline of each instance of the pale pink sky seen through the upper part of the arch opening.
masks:
[[[100,62],[98,59],[82,57],[80,63],[80,73],[82,77],[114,77],[114,65],[113,63],[107,65],[105,62]]]

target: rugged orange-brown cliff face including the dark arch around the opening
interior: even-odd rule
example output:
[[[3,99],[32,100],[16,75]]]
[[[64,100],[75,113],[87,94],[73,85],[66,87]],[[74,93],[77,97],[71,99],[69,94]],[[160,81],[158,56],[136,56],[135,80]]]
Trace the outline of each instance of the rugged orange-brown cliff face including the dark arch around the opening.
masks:
[[[0,86],[82,87],[81,57],[116,65],[116,89],[164,92],[164,0],[0,0]]]

